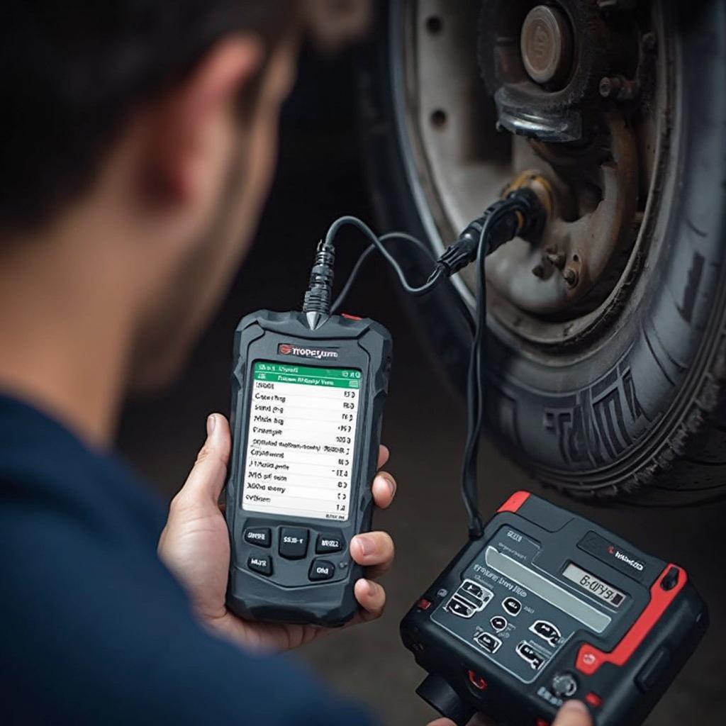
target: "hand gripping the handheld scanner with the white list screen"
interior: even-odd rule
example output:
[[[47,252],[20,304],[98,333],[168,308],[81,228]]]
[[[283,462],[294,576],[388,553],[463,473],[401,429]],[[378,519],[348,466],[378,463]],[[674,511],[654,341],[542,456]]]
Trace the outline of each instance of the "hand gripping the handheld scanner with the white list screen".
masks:
[[[159,539],[158,552],[166,566],[189,593],[200,619],[213,629],[247,648],[286,650],[330,632],[313,625],[285,625],[246,621],[224,604],[229,572],[229,534],[219,507],[219,495],[227,478],[231,449],[229,423],[220,414],[207,419],[207,440],[197,455],[186,483],[172,499],[169,516]],[[388,460],[380,447],[378,466]],[[396,482],[379,472],[372,484],[373,500],[381,509],[391,505]],[[367,532],[351,539],[351,558],[367,568],[367,579],[355,584],[360,610],[348,625],[378,618],[386,592],[374,579],[393,562],[393,541],[386,532]]]

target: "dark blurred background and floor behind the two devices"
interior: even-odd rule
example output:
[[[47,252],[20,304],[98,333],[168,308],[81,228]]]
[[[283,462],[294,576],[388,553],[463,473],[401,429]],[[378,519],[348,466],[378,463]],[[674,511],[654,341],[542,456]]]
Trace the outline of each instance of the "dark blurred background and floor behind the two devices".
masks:
[[[300,306],[315,245],[336,217],[355,214],[375,228],[362,166],[354,52],[334,60],[306,52],[283,114],[280,165],[256,245],[182,378],[159,399],[132,404],[123,417],[122,452],[165,497],[184,482],[203,442],[208,413],[229,412],[232,335],[240,317],[260,308]],[[341,234],[339,281],[363,244],[355,233]],[[393,335],[383,441],[391,449],[387,468],[399,482],[399,494],[391,510],[378,514],[375,526],[393,534],[396,566],[384,581],[388,608],[382,619],[335,633],[296,657],[309,661],[340,690],[370,703],[386,723],[423,725],[433,717],[414,693],[423,672],[400,644],[398,623],[466,536],[458,492],[465,411],[421,345],[408,306],[380,260],[367,264],[344,309],[377,319]],[[516,489],[542,493],[486,442],[481,464],[485,515]],[[544,495],[564,501],[552,492]],[[709,602],[713,622],[706,641],[648,726],[723,723],[726,578],[719,539],[726,506],[634,510],[565,503],[643,549],[685,566]]]

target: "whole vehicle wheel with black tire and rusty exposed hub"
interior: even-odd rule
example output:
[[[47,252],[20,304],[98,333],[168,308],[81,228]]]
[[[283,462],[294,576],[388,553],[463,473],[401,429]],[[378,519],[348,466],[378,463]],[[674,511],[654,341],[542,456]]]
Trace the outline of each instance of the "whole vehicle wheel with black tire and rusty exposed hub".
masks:
[[[381,229],[441,253],[519,174],[555,198],[486,263],[489,433],[571,494],[724,497],[726,5],[382,6],[360,84]],[[473,282],[417,308],[457,386]]]

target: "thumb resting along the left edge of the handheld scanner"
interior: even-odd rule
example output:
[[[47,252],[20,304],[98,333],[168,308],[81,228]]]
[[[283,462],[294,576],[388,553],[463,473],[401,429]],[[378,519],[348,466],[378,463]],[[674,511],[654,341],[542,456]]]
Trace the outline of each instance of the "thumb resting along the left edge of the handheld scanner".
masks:
[[[208,499],[216,505],[227,478],[231,448],[227,419],[219,413],[211,414],[207,418],[207,439],[179,494],[190,499]]]

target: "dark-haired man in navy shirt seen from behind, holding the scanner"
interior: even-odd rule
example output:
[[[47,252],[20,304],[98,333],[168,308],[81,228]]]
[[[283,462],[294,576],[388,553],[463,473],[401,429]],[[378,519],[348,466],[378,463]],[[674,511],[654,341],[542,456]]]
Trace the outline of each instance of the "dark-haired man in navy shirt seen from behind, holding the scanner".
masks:
[[[346,32],[324,11],[4,4],[0,722],[370,723],[272,655],[325,631],[224,606],[227,420],[208,417],[168,518],[111,452],[127,391],[174,375],[245,253],[305,18],[329,41]],[[372,483],[379,507],[395,490]],[[368,568],[361,622],[383,610],[393,543],[372,532],[350,552]],[[558,726],[586,725],[583,709]]]

